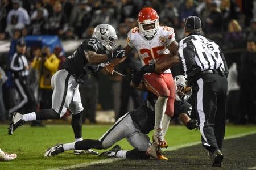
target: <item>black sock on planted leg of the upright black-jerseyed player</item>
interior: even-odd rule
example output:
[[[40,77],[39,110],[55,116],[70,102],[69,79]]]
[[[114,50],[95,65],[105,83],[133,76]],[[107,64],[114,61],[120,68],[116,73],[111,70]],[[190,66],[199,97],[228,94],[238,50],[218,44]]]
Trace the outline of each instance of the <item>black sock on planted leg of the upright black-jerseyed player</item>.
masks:
[[[71,126],[73,128],[75,139],[82,137],[82,113],[72,114]]]

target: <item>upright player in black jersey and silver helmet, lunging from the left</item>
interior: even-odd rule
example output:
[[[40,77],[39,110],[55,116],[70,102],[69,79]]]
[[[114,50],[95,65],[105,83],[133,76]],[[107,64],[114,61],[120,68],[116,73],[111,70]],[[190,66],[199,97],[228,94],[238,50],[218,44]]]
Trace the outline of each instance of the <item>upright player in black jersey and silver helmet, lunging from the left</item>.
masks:
[[[82,114],[80,112],[84,108],[81,104],[79,84],[82,83],[84,75],[98,71],[104,66],[104,62],[113,58],[122,58],[125,55],[125,51],[121,49],[121,46],[116,48],[115,40],[117,40],[117,35],[111,25],[97,25],[94,28],[92,38],[84,40],[77,50],[68,57],[67,61],[63,63],[62,69],[52,76],[52,108],[23,115],[15,112],[8,134],[13,134],[16,128],[28,121],[58,119],[69,108],[72,112],[71,125],[75,134],[75,141],[81,141]],[[111,75],[106,71],[102,72],[106,75]],[[118,73],[115,72],[114,74]]]

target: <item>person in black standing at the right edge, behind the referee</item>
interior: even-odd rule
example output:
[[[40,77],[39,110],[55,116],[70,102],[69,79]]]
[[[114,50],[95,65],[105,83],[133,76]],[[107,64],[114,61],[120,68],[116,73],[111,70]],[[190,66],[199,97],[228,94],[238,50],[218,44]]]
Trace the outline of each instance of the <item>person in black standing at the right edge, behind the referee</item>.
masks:
[[[241,111],[238,123],[244,124],[245,117],[249,122],[256,123],[256,39],[249,37],[247,41],[247,52],[241,56],[241,69],[238,73],[238,82],[240,83],[241,96],[240,104]]]

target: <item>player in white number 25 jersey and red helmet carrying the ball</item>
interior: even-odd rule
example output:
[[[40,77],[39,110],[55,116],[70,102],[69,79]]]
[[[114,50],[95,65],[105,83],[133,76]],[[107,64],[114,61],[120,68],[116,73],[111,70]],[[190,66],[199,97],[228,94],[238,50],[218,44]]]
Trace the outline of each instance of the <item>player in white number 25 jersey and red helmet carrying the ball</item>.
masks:
[[[131,50],[136,49],[143,65],[150,65],[155,70],[155,73],[146,73],[143,76],[143,82],[149,91],[158,96],[155,104],[153,142],[160,147],[167,147],[167,142],[164,140],[166,131],[163,131],[167,128],[163,126],[169,125],[170,118],[174,114],[175,101],[175,83],[170,67],[177,65],[180,61],[177,56],[178,43],[175,40],[174,29],[160,26],[158,18],[154,9],[143,8],[138,14],[139,28],[135,27],[130,30],[127,45],[123,49],[125,49],[126,57]],[[163,57],[164,62],[158,63],[158,60]],[[124,59],[114,59],[110,70]],[[131,85],[137,86],[138,84]]]

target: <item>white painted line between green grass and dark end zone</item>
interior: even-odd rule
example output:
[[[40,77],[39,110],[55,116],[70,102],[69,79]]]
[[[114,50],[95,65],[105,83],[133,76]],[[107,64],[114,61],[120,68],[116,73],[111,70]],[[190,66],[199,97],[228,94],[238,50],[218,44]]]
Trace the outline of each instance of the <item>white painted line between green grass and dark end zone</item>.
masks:
[[[229,137],[225,137],[224,139],[226,140],[226,139],[233,139],[233,138],[241,138],[241,137],[245,137],[245,136],[251,135],[251,134],[256,134],[256,131],[251,131],[249,133],[242,133],[242,134],[238,134],[238,135],[232,135],[232,136],[229,136]],[[201,141],[185,143],[183,145],[178,145],[178,146],[174,146],[174,147],[168,147],[166,150],[163,150],[163,152],[164,151],[174,151],[174,150],[178,150],[180,148],[198,145],[200,143],[201,143]],[[71,168],[79,168],[79,167],[88,167],[90,165],[112,163],[112,162],[115,162],[117,160],[122,160],[122,159],[123,158],[112,158],[112,159],[96,160],[96,161],[93,161],[93,162],[71,165],[71,166],[68,166],[68,167],[52,168],[52,169],[48,169],[48,170],[59,170],[59,169],[63,170],[63,169],[71,169]],[[254,167],[252,167],[252,168],[254,168]]]

